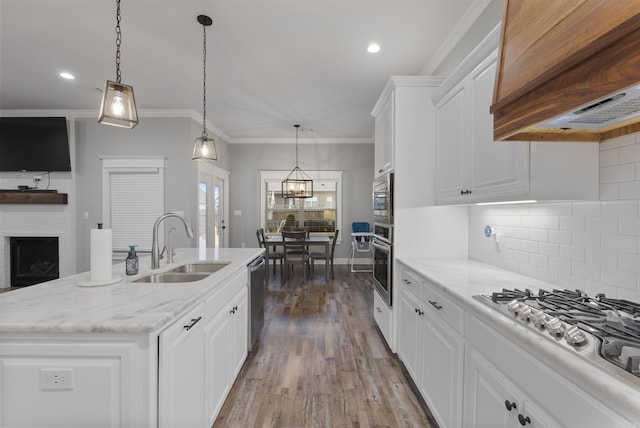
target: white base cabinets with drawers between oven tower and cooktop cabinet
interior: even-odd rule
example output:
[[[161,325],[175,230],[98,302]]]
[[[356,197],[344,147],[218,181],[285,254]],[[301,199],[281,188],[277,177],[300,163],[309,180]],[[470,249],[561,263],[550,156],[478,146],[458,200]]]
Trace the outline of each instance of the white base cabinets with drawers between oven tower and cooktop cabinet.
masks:
[[[442,427],[462,426],[464,311],[400,265],[398,356]]]

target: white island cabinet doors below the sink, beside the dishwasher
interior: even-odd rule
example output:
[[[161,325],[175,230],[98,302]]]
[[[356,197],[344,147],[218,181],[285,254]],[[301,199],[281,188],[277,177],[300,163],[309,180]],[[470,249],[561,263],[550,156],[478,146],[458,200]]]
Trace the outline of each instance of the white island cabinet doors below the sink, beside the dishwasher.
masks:
[[[211,295],[205,306],[205,417],[211,426],[247,356],[246,272]]]

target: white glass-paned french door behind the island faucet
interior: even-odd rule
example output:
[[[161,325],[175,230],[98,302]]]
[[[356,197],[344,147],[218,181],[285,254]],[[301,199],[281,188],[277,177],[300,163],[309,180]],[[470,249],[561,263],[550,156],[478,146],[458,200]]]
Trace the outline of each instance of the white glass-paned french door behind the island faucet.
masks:
[[[198,247],[222,248],[229,242],[225,219],[228,209],[229,172],[198,162]]]

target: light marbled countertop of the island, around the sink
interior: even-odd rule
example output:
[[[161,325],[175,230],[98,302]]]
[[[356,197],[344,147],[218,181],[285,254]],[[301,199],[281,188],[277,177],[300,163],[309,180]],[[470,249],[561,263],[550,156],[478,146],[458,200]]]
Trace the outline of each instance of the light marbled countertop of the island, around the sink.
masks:
[[[238,268],[264,250],[220,248],[176,250],[175,263],[151,270],[150,257],[140,258],[137,275],[126,276],[124,263],[113,266],[110,285],[81,287],[90,272],[0,294],[0,333],[147,333],[175,319],[201,301]],[[164,272],[196,261],[224,261],[229,266],[206,279],[180,284],[134,283],[150,272]]]

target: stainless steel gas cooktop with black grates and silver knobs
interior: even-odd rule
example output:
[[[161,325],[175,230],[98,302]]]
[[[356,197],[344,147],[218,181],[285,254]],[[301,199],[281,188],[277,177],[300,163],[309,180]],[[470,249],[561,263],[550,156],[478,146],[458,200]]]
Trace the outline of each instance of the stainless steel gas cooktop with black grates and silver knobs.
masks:
[[[503,289],[474,297],[640,387],[640,304],[580,290]]]

